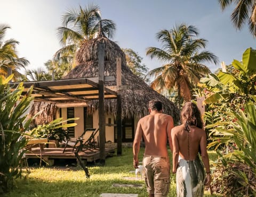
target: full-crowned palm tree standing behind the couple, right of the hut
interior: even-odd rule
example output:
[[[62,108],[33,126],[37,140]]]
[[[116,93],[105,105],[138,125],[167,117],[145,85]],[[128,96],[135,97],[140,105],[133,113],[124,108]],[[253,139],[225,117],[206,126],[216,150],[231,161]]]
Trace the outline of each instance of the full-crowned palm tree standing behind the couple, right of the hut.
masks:
[[[176,25],[171,30],[159,31],[156,36],[162,43],[162,49],[149,47],[146,54],[166,64],[148,73],[155,77],[151,87],[158,92],[176,90],[180,106],[180,98],[190,100],[191,89],[202,76],[211,72],[203,62],[217,64],[218,58],[206,50],[199,52],[207,41],[197,39],[198,30],[193,25]]]

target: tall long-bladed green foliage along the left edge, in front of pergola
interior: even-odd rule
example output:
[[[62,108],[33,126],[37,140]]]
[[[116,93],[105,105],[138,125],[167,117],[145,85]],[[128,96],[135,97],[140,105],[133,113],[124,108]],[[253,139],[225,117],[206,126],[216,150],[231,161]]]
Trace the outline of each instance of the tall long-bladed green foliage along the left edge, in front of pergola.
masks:
[[[20,99],[23,84],[11,90],[12,77],[4,80],[0,76],[0,193],[12,189],[14,179],[21,176],[21,158],[27,143],[22,137],[31,122],[25,114],[33,100],[32,89]]]

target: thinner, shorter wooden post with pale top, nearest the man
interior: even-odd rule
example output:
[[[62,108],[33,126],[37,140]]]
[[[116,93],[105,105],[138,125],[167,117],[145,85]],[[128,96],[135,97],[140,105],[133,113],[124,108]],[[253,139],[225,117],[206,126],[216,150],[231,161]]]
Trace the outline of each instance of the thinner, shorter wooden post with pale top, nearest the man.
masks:
[[[116,58],[116,85],[117,85],[117,155],[122,155],[122,99],[120,87],[122,85],[121,76],[122,61],[120,57]]]

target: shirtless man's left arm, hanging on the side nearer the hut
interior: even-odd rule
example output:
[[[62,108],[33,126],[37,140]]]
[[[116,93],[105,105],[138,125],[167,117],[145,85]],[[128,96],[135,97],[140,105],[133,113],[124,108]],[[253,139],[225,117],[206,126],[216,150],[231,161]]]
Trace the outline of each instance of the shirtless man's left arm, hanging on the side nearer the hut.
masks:
[[[138,168],[139,165],[139,160],[138,160],[138,155],[140,151],[140,141],[142,138],[142,128],[141,128],[141,121],[138,122],[137,125],[137,130],[135,133],[135,137],[133,140],[133,167]]]

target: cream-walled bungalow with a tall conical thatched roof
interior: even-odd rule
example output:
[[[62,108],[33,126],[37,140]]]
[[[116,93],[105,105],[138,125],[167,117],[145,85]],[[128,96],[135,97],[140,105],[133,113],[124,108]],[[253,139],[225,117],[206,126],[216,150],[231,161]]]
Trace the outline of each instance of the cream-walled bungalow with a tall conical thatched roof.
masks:
[[[104,75],[115,76],[114,81],[105,81],[105,87],[108,89],[116,90],[116,64],[117,59],[121,59],[121,87],[125,87],[118,90],[122,101],[122,141],[133,141],[138,119],[148,114],[148,101],[151,99],[161,100],[163,102],[164,113],[171,115],[174,118],[174,123],[177,124],[179,120],[179,110],[177,106],[169,99],[151,89],[149,85],[138,76],[134,75],[126,65],[125,54],[122,49],[115,42],[109,40],[102,34],[99,34],[97,38],[89,40],[81,46],[76,55],[77,66],[73,68],[64,79],[92,79],[98,77],[98,49],[99,44],[102,43],[105,45]],[[92,89],[89,92],[87,91],[87,95],[84,95],[84,97],[92,97],[95,93],[96,92]],[[30,113],[35,114],[45,106],[43,102],[35,102],[33,110]],[[49,107],[51,113],[44,113],[43,116],[37,117],[36,123],[42,123],[42,121],[45,121],[46,117],[49,118],[49,115],[52,115],[52,118],[79,117],[76,121],[77,126],[68,129],[69,135],[76,138],[81,135],[86,128],[99,127],[98,109],[99,101],[97,99],[92,99],[88,102],[57,102],[56,104],[51,104],[51,107]],[[116,142],[117,99],[108,99],[105,97],[105,113],[106,141]]]

